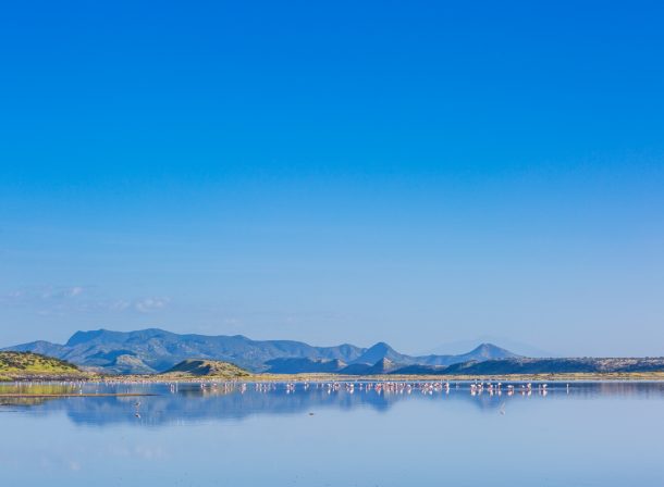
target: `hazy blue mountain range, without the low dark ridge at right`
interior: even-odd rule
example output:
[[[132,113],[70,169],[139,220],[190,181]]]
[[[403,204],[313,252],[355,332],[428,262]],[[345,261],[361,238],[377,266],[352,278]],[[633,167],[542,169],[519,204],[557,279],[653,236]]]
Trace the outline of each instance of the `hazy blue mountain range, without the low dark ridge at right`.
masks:
[[[370,348],[348,344],[313,347],[292,340],[251,340],[242,335],[179,335],[158,328],[77,332],[64,345],[33,341],[5,350],[40,353],[115,374],[160,373],[187,359],[221,360],[251,372],[365,375],[405,366],[439,370],[459,363],[518,358],[491,344],[458,355],[411,357],[384,342]]]

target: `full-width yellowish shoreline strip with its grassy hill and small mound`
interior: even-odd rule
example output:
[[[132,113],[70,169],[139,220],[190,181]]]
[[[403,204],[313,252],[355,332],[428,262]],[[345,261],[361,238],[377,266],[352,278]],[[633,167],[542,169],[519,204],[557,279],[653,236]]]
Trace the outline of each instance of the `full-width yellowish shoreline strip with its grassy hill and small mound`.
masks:
[[[605,360],[605,359],[603,359]],[[625,359],[616,359],[625,360]],[[184,383],[184,382],[660,382],[664,370],[634,372],[545,372],[485,374],[372,374],[335,373],[271,374],[250,373],[231,363],[204,359],[185,360],[161,374],[110,375],[82,370],[69,362],[32,352],[0,352],[0,383],[14,382],[103,382],[103,383]],[[70,396],[82,396],[72,394]]]

